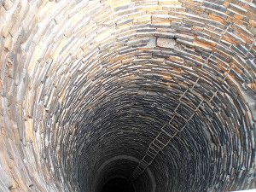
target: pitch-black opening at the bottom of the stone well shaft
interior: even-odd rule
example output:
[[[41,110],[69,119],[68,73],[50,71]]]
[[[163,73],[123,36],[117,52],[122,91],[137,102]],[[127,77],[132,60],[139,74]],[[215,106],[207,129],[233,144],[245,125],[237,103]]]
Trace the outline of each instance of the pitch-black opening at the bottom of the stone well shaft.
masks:
[[[135,189],[127,179],[116,177],[103,186],[102,192],[135,192]]]

